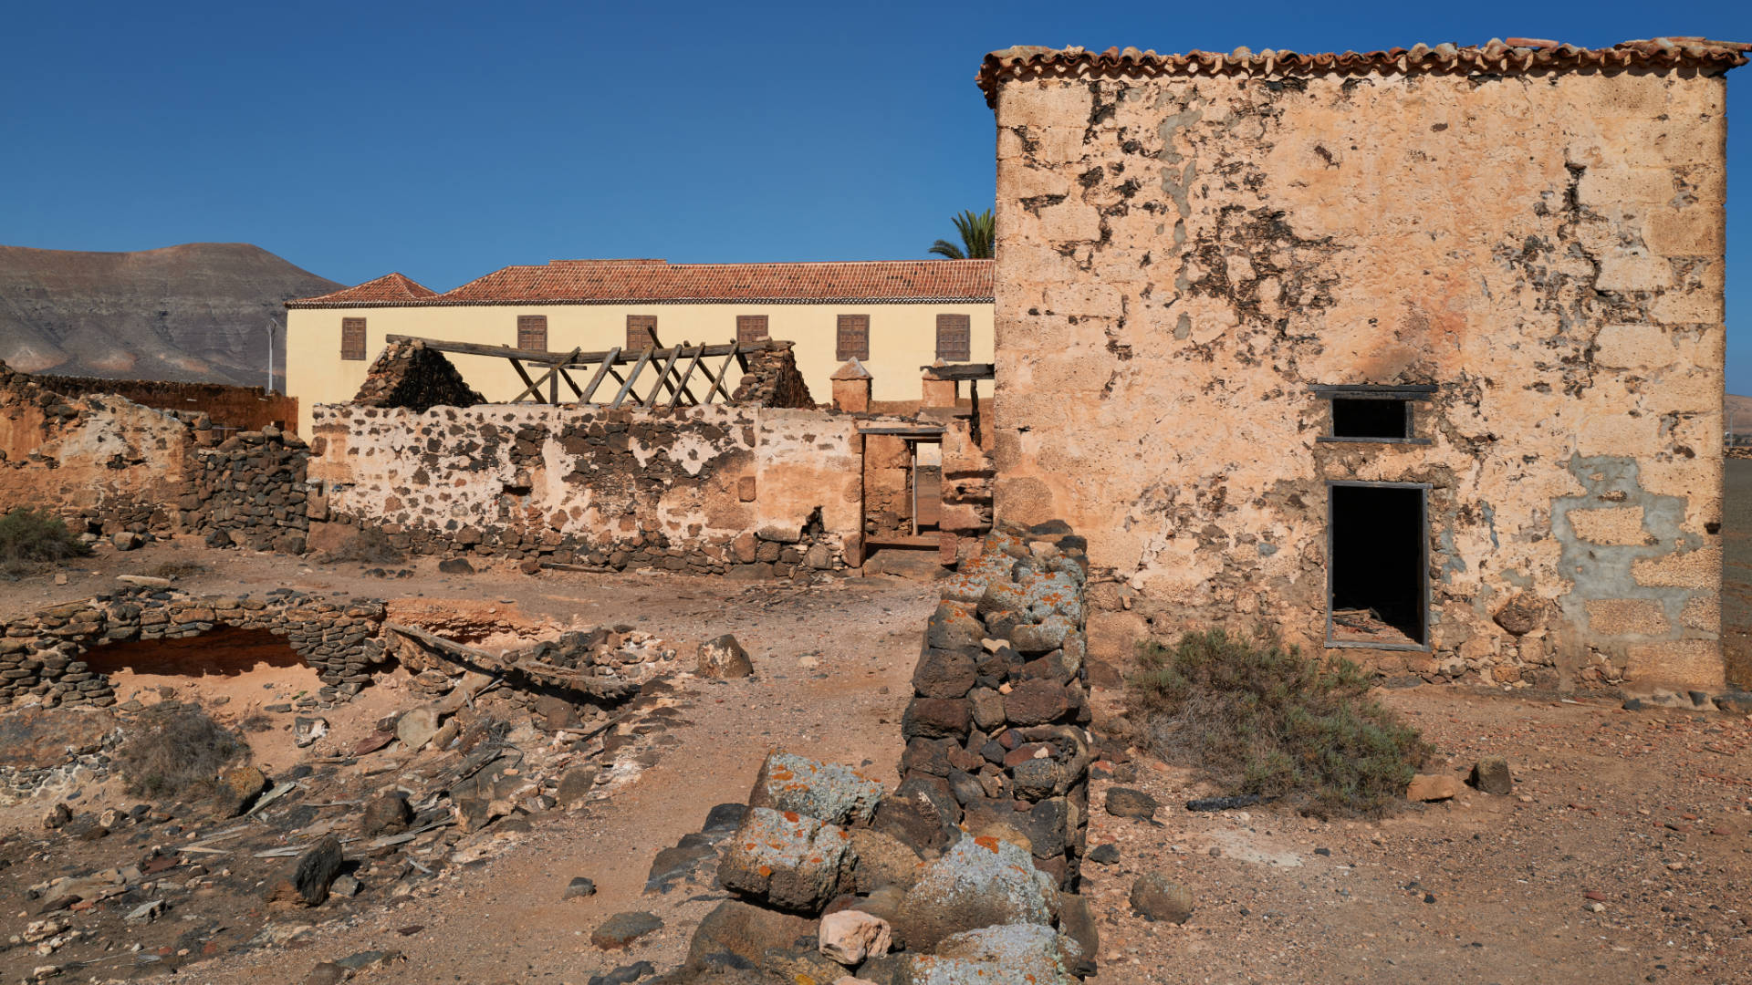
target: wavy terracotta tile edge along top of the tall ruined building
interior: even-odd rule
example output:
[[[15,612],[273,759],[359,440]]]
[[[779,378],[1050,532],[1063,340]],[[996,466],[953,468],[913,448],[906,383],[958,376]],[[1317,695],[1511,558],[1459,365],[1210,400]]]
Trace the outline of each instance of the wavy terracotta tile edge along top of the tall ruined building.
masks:
[[[1657,37],[1626,40],[1612,47],[1577,47],[1544,39],[1491,39],[1479,46],[1444,42],[1414,44],[1386,51],[1232,53],[1188,51],[1156,54],[1135,47],[1086,51],[1083,47],[1016,46],[993,51],[979,65],[978,82],[986,102],[995,103],[997,84],[1023,75],[1361,75],[1368,72],[1493,72],[1577,68],[1719,68],[1745,65],[1752,44],[1701,37]]]

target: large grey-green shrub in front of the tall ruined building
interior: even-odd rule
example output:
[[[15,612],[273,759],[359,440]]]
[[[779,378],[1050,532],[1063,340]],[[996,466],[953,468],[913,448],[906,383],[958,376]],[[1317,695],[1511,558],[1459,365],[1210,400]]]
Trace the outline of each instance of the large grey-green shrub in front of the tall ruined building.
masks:
[[[1139,647],[1128,717],[1163,759],[1228,792],[1282,797],[1321,817],[1405,803],[1428,743],[1379,701],[1351,661],[1310,661],[1270,633],[1221,629]]]

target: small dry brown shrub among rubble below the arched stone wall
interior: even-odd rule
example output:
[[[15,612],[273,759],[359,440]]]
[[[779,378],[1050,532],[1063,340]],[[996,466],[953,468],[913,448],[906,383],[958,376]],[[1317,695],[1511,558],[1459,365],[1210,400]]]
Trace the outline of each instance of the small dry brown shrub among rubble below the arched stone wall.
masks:
[[[123,726],[116,762],[137,796],[201,797],[214,790],[219,771],[249,757],[240,736],[193,706],[147,708]]]

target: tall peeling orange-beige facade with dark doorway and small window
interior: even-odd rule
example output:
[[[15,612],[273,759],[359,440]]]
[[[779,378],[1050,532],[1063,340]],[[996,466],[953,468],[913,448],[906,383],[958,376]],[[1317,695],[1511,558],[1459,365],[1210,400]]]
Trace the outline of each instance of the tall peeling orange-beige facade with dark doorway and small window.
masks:
[[[1090,538],[1104,655],[1254,622],[1318,652],[1325,482],[1428,482],[1431,652],[1346,655],[1720,687],[1724,95],[1002,82],[999,517]],[[1316,443],[1310,384],[1435,384],[1430,443]]]

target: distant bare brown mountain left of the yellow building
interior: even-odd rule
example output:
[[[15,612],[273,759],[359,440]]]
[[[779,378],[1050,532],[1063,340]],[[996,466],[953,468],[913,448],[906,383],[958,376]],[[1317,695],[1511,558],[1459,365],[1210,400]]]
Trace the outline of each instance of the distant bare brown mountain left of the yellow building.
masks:
[[[0,245],[0,359],[26,373],[275,387],[286,308],[340,284],[251,244],[138,252]]]

